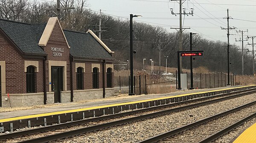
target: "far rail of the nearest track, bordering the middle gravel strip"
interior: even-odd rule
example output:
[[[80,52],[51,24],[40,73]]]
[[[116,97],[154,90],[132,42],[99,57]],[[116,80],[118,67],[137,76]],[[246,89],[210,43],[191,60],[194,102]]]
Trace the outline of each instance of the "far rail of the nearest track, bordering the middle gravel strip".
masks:
[[[190,124],[185,125],[185,126],[182,126],[182,127],[180,127],[180,128],[173,129],[173,130],[171,130],[171,131],[169,131],[169,132],[165,132],[165,133],[163,133],[163,134],[156,135],[156,136],[154,136],[154,137],[150,137],[150,138],[148,138],[148,139],[142,140],[142,141],[137,142],[137,143],[155,143],[155,142],[157,142],[157,141],[159,141],[159,140],[163,140],[163,139],[165,139],[165,138],[167,138],[167,137],[170,137],[170,136],[172,136],[172,135],[175,135],[175,134],[177,134],[177,133],[179,133],[179,132],[183,132],[183,131],[185,131],[185,130],[187,130],[187,129],[190,129],[190,128],[192,128],[192,127],[198,126],[198,125],[200,125],[200,124],[202,124],[202,123],[206,123],[206,122],[208,122],[208,121],[211,121],[211,120],[213,120],[213,119],[216,119],[216,118],[219,118],[219,117],[221,117],[221,116],[227,115],[227,114],[229,114],[229,113],[235,112],[235,111],[237,111],[237,110],[239,110],[239,109],[243,109],[243,108],[245,108],[245,107],[247,107],[247,106],[250,106],[250,105],[253,105],[253,104],[256,104],[256,101],[250,102],[250,103],[248,103],[248,104],[241,105],[241,106],[239,106],[239,107],[236,107],[236,108],[227,110],[227,111],[225,111],[225,112],[221,112],[221,113],[216,114],[216,115],[213,115],[213,116],[211,116],[211,117],[209,117],[209,118],[204,118],[204,119],[202,119],[202,120],[200,120],[200,121],[196,121],[196,122],[194,122],[194,123],[190,123]],[[207,142],[207,143],[208,143],[208,142]]]

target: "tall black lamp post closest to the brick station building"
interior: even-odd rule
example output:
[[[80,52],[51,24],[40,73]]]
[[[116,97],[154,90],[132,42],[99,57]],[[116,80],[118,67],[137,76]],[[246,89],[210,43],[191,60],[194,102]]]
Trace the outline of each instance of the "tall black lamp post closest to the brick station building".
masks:
[[[134,93],[134,81],[133,81],[133,53],[136,53],[135,50],[133,50],[133,17],[142,17],[141,15],[133,15],[130,14],[130,73],[131,73],[131,90],[129,95],[135,95]]]

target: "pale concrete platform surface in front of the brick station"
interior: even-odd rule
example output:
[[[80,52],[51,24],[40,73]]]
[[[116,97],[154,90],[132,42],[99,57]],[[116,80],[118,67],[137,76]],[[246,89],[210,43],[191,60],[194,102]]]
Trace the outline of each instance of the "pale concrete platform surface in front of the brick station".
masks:
[[[165,93],[165,94],[133,95],[133,96],[128,96],[122,99],[111,97],[111,98],[102,99],[101,101],[97,99],[98,101],[85,102],[85,103],[77,103],[77,102],[65,103],[65,104],[57,103],[56,105],[59,105],[59,106],[53,106],[53,107],[45,106],[45,107],[36,108],[36,109],[26,109],[26,110],[12,111],[12,112],[0,112],[0,122],[4,122],[5,121],[4,119],[21,117],[21,116],[38,115],[38,114],[44,114],[44,113],[49,113],[47,115],[51,115],[52,112],[65,113],[66,111],[73,110],[73,109],[86,110],[86,108],[91,109],[93,107],[100,107],[100,106],[107,107],[113,104],[115,106],[115,104],[125,104],[126,102],[132,102],[132,101],[154,100],[155,98],[166,98],[166,97],[176,96],[176,95],[182,96],[182,95],[193,94],[193,93],[210,92],[214,90],[225,90],[225,89],[232,89],[237,87],[244,87],[244,85],[219,87],[219,88],[211,88],[211,89],[184,90],[184,91],[177,91],[177,92]]]

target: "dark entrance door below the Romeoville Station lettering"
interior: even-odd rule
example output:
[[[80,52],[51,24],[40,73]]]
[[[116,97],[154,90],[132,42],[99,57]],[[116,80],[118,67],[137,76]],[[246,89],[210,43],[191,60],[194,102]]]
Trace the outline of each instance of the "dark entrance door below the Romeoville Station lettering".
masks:
[[[63,91],[62,67],[52,67],[52,91],[54,92],[54,103],[60,103],[61,91]]]

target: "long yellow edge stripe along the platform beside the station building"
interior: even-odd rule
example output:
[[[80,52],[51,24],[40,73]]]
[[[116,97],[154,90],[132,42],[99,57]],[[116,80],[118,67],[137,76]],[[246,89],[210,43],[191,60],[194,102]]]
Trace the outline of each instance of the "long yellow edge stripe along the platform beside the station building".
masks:
[[[251,87],[251,86],[256,86],[256,85],[247,85],[247,86],[243,86],[243,87]],[[137,103],[154,101],[154,100],[182,97],[182,96],[186,96],[186,95],[195,95],[195,94],[210,93],[210,92],[223,91],[223,90],[232,90],[232,89],[243,88],[243,87],[233,87],[233,88],[226,88],[226,89],[221,89],[221,90],[210,90],[210,91],[204,91],[204,92],[199,92],[199,93],[188,93],[188,94],[174,95],[174,96],[161,97],[161,98],[152,98],[152,99],[146,99],[146,100],[140,100],[140,101],[131,101],[131,102],[123,102],[123,103],[117,103],[117,104],[102,105],[102,106],[96,106],[96,107],[87,107],[87,108],[81,108],[81,109],[72,109],[72,110],[65,110],[65,111],[58,111],[58,112],[35,114],[35,115],[26,115],[26,116],[20,116],[20,117],[0,119],[0,123],[15,121],[15,120],[24,120],[24,119],[28,119],[28,118],[38,118],[38,117],[44,117],[44,116],[59,115],[59,114],[65,114],[65,113],[70,113],[70,112],[81,112],[81,111],[85,111],[85,110],[93,110],[93,109],[107,108],[107,107],[114,107],[114,106],[121,106],[121,105],[128,105],[128,104],[137,104]]]

